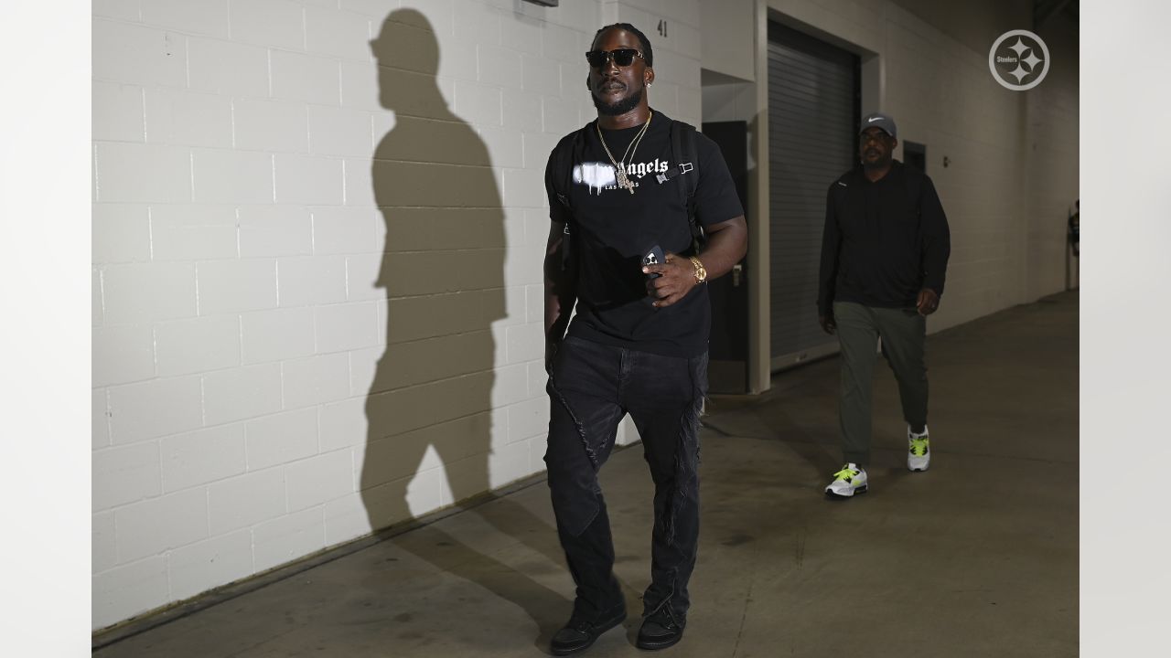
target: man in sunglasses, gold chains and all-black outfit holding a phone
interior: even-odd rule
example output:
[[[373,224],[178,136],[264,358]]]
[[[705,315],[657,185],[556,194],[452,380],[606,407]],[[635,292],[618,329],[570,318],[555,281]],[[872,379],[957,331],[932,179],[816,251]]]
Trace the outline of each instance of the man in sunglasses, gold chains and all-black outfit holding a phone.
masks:
[[[557,656],[584,650],[626,616],[597,480],[626,413],[655,481],[651,583],[637,645],[663,649],[683,636],[699,539],[698,432],[711,324],[703,282],[731,270],[747,245],[715,144],[696,135],[697,162],[671,162],[672,121],[646,98],[655,81],[646,36],[628,23],[603,27],[587,61],[598,118],[557,146],[576,144],[580,157],[557,158],[554,150],[546,173],[553,221],[545,259],[552,407],[545,461],[577,585],[573,615],[553,638]],[[571,171],[559,169],[566,162]],[[698,177],[696,219],[708,237],[698,254],[689,251],[680,193],[689,176]],[[644,265],[656,246],[662,260]]]

